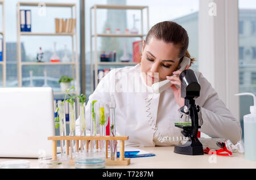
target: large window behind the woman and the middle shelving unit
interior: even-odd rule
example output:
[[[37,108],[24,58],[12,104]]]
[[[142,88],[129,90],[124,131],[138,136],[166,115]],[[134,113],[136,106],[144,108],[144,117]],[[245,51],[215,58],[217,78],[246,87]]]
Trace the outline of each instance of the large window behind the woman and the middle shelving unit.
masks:
[[[183,0],[183,1],[168,1],[162,0],[161,3],[155,0],[96,0],[96,1],[85,1],[85,36],[86,36],[86,93],[90,94],[91,89],[91,70],[90,70],[90,54],[94,55],[93,52],[90,52],[90,7],[93,5],[134,5],[134,6],[148,6],[149,9],[149,28],[151,28],[154,24],[162,22],[164,20],[172,20],[182,25],[188,32],[189,36],[189,53],[193,58],[196,59],[195,65],[192,65],[193,70],[198,70],[198,58],[199,58],[199,49],[198,49],[198,10],[199,10],[199,0]],[[118,16],[117,16],[118,14]],[[141,14],[139,11],[135,12],[135,10],[98,10],[97,11],[97,32],[104,32],[106,29],[106,25],[110,27],[110,31],[114,31],[116,28],[121,29],[121,32],[124,31],[125,28],[131,29],[133,28],[133,15],[135,15],[135,19],[138,21],[135,22],[135,26],[140,30],[141,28]],[[143,15],[146,16],[146,12],[143,12]],[[100,19],[100,20],[99,20]],[[144,17],[144,29],[146,29],[146,20],[147,17]],[[149,30],[149,29],[148,29]],[[147,32],[144,31],[144,34]],[[99,37],[100,38],[100,37]],[[119,48],[119,54],[117,57],[122,55],[123,52],[123,42],[127,42],[127,54],[130,56],[131,53],[131,42],[134,41],[129,38],[114,38],[112,41],[118,46],[106,46],[102,42],[104,38],[101,37],[100,40],[97,40],[98,45],[98,54],[101,51],[114,50]],[[143,39],[145,36],[143,37]],[[139,38],[140,40],[140,38]],[[114,44],[114,43],[113,43]],[[104,49],[102,49],[104,48]],[[108,49],[107,49],[108,48]],[[94,57],[93,57],[94,58]],[[117,66],[116,66],[117,67]],[[123,67],[123,66],[118,66]],[[106,68],[106,66],[102,66],[102,68]],[[110,68],[110,66],[108,66]],[[88,96],[87,96],[88,97]]]

